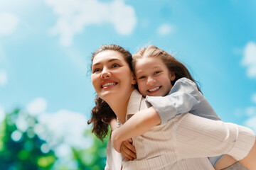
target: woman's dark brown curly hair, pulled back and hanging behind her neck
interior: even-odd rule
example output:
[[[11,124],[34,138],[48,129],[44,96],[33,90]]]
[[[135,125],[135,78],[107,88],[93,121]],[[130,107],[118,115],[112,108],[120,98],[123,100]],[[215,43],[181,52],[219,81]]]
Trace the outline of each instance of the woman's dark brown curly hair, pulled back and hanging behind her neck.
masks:
[[[129,51],[119,45],[102,45],[98,50],[92,53],[91,63],[97,54],[107,50],[120,52],[132,71],[132,55]],[[112,118],[116,118],[116,115],[107,102],[97,95],[95,97],[95,107],[92,108],[91,115],[92,118],[88,120],[87,124],[92,123],[92,132],[95,133],[96,137],[100,138],[100,140],[103,140],[109,131],[110,120],[112,120]]]

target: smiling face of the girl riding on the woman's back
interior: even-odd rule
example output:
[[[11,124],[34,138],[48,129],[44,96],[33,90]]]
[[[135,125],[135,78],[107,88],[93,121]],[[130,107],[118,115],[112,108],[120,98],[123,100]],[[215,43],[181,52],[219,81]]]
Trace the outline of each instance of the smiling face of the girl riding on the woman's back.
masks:
[[[159,57],[143,57],[134,67],[139,91],[143,96],[166,96],[171,91],[174,72],[169,72]]]

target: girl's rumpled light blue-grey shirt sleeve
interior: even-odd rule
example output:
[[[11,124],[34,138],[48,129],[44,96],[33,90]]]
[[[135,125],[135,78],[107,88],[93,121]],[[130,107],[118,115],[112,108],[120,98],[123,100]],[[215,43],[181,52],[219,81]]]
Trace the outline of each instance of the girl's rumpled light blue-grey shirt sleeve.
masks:
[[[166,123],[175,115],[196,109],[203,95],[198,91],[196,84],[186,78],[176,81],[167,96],[146,96],[146,105],[153,106]]]

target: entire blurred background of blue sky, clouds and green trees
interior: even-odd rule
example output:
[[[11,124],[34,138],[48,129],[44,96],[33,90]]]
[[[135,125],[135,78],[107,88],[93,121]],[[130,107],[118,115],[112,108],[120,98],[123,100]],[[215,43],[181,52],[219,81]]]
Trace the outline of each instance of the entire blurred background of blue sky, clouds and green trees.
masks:
[[[256,1],[0,0],[0,169],[103,169],[90,57],[156,45],[220,118],[256,132]]]

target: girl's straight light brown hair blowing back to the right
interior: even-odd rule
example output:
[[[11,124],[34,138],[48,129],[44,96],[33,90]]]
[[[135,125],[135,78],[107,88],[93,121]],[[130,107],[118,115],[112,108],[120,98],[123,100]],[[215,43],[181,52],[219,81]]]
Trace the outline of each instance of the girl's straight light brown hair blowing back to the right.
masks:
[[[188,71],[185,65],[179,62],[178,60],[176,60],[176,58],[174,58],[168,52],[165,52],[164,50],[161,50],[154,45],[149,45],[148,47],[142,47],[136,53],[134,53],[134,55],[132,55],[133,68],[137,60],[141,59],[142,57],[160,57],[160,59],[164,62],[164,64],[166,64],[166,67],[168,67],[169,72],[175,73],[176,78],[174,79],[174,81],[171,81],[171,84],[173,86],[178,79],[181,79],[182,77],[186,77],[188,79],[191,79],[191,81],[195,82],[196,86],[198,87],[198,90],[201,91],[201,89],[197,84],[197,81],[193,79],[193,77],[191,76],[191,73]]]

